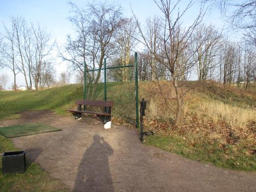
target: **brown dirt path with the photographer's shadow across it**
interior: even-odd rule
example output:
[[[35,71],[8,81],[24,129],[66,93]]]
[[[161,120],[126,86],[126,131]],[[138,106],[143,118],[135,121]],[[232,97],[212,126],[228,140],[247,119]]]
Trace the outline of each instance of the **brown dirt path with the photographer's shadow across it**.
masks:
[[[216,168],[145,146],[132,128],[105,130],[94,119],[75,121],[46,111],[25,112],[0,125],[24,122],[62,129],[13,142],[74,192],[256,192],[256,173]]]

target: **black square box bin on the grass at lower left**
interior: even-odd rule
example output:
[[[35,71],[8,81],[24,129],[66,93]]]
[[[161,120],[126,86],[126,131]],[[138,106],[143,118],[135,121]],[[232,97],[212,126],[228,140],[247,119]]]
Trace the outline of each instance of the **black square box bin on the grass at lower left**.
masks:
[[[26,171],[25,151],[4,152],[2,155],[3,173],[24,173]]]

